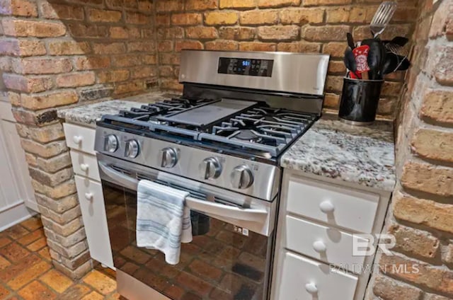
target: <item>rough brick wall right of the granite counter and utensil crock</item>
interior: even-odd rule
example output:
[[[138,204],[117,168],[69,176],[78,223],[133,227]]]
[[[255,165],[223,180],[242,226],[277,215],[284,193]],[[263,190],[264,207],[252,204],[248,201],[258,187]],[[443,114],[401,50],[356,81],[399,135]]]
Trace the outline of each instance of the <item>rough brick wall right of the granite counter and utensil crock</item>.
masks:
[[[453,299],[453,1],[423,2],[384,229],[397,244],[380,257],[367,299]]]

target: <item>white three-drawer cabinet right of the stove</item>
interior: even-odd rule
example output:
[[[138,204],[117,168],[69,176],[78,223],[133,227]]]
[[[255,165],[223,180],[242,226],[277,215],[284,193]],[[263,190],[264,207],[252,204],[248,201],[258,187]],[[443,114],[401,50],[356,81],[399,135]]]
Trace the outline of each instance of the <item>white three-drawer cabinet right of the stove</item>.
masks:
[[[272,300],[362,300],[374,255],[352,253],[377,239],[390,192],[285,169],[280,197]],[[369,271],[369,270],[367,270]]]

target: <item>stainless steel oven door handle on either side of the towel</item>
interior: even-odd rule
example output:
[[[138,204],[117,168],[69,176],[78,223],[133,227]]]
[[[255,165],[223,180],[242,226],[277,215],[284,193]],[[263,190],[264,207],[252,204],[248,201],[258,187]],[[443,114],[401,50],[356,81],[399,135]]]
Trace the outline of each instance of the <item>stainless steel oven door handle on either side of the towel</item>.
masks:
[[[139,180],[118,172],[101,161],[99,161],[99,167],[103,173],[110,178],[110,180],[113,180],[114,183],[117,183],[124,188],[129,188],[130,190],[137,190]],[[199,200],[194,197],[185,197],[185,204],[190,209],[194,209],[199,212],[205,212],[207,214],[214,214],[218,217],[226,217],[242,221],[264,222],[269,214],[265,209],[233,207],[207,200]]]

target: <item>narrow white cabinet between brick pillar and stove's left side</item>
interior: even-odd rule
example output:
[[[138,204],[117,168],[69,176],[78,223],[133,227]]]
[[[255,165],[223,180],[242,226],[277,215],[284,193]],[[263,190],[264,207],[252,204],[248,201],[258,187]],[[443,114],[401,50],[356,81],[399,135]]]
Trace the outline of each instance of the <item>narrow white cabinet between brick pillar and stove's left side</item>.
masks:
[[[64,123],[63,127],[67,145],[71,148],[72,167],[76,174],[77,194],[91,258],[114,268],[103,190],[94,151],[96,130],[69,123]]]

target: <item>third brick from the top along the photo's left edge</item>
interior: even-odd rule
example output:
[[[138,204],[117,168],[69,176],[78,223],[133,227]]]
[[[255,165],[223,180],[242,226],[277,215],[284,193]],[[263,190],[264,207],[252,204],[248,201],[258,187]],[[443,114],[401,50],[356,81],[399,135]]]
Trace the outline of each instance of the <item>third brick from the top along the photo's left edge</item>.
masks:
[[[28,57],[44,55],[45,53],[45,45],[39,40],[6,38],[0,40],[0,54]]]

